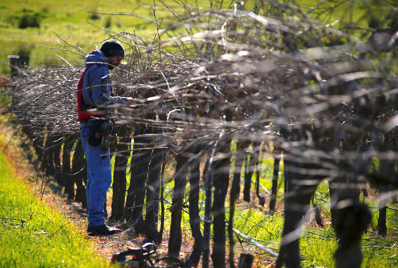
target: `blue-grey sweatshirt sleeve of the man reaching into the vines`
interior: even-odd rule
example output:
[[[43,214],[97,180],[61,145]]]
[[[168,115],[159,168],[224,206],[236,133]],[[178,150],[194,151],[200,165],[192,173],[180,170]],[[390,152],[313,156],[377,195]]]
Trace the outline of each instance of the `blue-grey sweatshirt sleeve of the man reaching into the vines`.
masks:
[[[94,67],[94,66],[93,66]],[[110,79],[109,79],[109,72],[106,66],[95,66],[94,68],[89,69],[89,85],[91,85],[91,97],[90,99],[93,101],[97,107],[104,107],[106,105],[112,104],[123,104],[127,102],[127,98],[119,97],[119,96],[111,96],[110,95]],[[86,100],[86,96],[84,93],[90,93],[87,90],[83,92],[83,97]],[[89,103],[88,103],[89,104]]]

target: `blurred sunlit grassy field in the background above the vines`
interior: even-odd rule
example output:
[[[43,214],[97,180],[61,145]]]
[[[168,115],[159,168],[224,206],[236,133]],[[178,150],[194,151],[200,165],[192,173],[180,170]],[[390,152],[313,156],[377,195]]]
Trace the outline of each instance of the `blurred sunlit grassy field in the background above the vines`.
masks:
[[[185,18],[183,13],[180,13],[183,9],[180,4],[173,0],[163,2],[176,11],[175,15],[181,19]],[[320,8],[308,8],[316,5],[317,2],[313,0],[295,1],[311,17],[325,23],[340,19],[338,23],[344,24],[349,18],[357,21],[369,12],[366,5],[351,5],[350,1],[338,5],[336,11],[332,13],[327,11],[335,4],[335,1],[326,1],[319,6]],[[196,1],[185,0],[184,3],[195,5]],[[212,1],[212,3],[214,8],[220,6],[219,0]],[[245,1],[244,7],[251,9],[253,3],[253,0]],[[199,4],[209,7],[210,1],[201,1]],[[229,5],[230,1],[223,1],[222,7],[226,8]],[[379,13],[385,12],[381,8],[378,9]],[[178,21],[175,15],[159,0],[1,0],[0,45],[2,49],[0,51],[0,74],[10,72],[8,55],[29,55],[28,63],[33,68],[51,68],[55,65],[65,64],[61,57],[72,65],[83,62],[82,53],[70,46],[65,46],[66,43],[80,47],[88,53],[99,46],[103,40],[123,31],[136,33],[148,40],[155,36],[156,27],[152,22],[138,16],[155,20],[154,10],[157,21],[162,21],[162,25],[167,25],[170,21]],[[326,12],[317,16],[319,11]],[[363,23],[363,26],[367,26],[365,25],[366,19]],[[178,31],[178,29],[176,28],[174,31]],[[126,41],[128,40],[126,39]],[[71,50],[73,53],[66,50]]]

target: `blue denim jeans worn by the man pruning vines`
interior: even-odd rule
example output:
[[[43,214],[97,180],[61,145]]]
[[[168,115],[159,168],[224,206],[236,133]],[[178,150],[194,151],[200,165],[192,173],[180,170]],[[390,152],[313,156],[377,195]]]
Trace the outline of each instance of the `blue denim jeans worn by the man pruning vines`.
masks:
[[[88,124],[89,125],[89,124]],[[82,147],[87,161],[87,211],[89,226],[105,224],[103,205],[106,191],[110,186],[112,174],[110,169],[109,148],[104,151],[101,146],[93,147],[89,144],[90,126],[80,130]],[[104,158],[103,154],[108,154]]]

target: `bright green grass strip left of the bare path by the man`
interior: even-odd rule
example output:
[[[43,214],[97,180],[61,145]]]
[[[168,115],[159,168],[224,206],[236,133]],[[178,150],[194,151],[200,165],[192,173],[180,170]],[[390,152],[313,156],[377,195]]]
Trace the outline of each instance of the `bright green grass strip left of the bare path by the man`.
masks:
[[[109,267],[70,221],[11,174],[0,153],[0,267]]]

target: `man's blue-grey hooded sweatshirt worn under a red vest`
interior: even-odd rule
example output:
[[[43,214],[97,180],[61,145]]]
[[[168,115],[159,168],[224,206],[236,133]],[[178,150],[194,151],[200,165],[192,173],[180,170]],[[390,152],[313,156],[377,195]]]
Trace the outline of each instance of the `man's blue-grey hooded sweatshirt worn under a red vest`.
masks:
[[[93,65],[94,64],[94,65]],[[111,96],[109,68],[105,56],[100,50],[94,50],[86,56],[86,68],[91,66],[84,75],[82,85],[83,102],[85,109],[99,109],[108,113],[106,106],[126,103],[127,98]],[[81,122],[86,125],[87,120]]]

